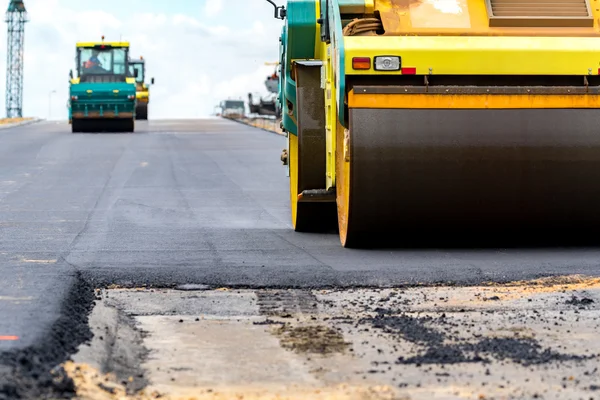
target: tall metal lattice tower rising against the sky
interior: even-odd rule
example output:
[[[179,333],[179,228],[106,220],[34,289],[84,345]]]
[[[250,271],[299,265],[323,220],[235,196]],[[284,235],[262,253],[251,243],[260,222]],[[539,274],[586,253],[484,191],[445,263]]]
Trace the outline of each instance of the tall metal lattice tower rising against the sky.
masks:
[[[10,0],[6,11],[6,117],[23,116],[23,48],[27,10],[23,0]]]

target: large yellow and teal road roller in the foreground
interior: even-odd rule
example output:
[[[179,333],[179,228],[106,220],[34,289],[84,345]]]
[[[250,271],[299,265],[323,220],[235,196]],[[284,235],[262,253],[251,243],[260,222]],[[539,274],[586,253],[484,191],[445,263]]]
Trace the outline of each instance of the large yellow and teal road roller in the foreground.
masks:
[[[589,0],[267,0],[292,222],[383,235],[600,226]]]

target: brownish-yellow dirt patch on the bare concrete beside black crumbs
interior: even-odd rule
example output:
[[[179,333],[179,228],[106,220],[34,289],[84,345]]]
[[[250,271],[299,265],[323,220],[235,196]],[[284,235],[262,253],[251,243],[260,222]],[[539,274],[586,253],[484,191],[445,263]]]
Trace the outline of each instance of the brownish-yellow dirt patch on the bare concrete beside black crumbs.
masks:
[[[281,346],[297,353],[332,354],[345,351],[350,343],[338,331],[321,325],[291,327],[283,325],[274,329]]]

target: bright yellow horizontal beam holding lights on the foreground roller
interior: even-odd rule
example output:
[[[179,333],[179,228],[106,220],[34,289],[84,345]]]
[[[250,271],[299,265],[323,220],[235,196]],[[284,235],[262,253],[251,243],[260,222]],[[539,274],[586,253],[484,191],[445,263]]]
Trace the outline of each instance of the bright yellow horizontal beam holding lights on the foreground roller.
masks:
[[[600,37],[347,36],[347,75],[399,75],[354,70],[353,57],[397,55],[417,74],[598,75]],[[373,64],[373,62],[372,62]]]

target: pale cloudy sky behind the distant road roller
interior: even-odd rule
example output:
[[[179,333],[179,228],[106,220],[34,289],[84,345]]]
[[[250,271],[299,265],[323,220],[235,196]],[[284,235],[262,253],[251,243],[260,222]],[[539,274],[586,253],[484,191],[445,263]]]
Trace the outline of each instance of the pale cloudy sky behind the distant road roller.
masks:
[[[265,0],[25,0],[25,6],[24,116],[67,118],[75,43],[102,35],[129,41],[130,56],[146,60],[147,77],[155,78],[150,118],[206,117],[221,100],[266,96],[264,81],[275,67],[265,63],[278,59],[282,22]],[[6,63],[6,24],[0,45]]]

